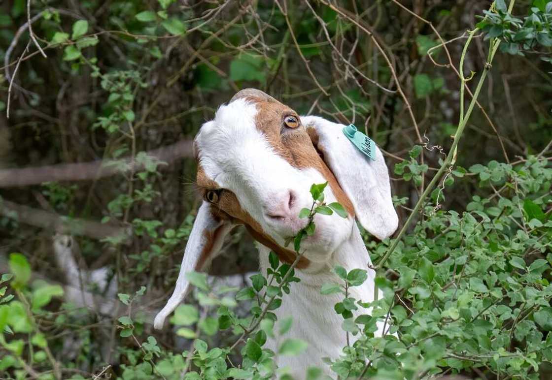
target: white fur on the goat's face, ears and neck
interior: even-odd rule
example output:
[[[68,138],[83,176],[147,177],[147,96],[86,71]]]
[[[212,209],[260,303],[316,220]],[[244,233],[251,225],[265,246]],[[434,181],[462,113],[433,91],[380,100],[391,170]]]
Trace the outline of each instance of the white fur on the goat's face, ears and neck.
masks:
[[[256,107],[245,99],[221,106],[215,119],[204,124],[196,137],[199,164],[221,189],[230,190],[237,196],[243,210],[259,223],[264,233],[283,246],[285,238],[294,236],[305,226],[306,220],[300,220],[298,214],[301,208],[310,208],[312,204],[310,186],[326,179],[314,168],[297,169],[278,156],[255,125]],[[342,135],[342,125],[315,116],[302,117],[301,120],[305,126],[316,129],[320,138],[318,148],[325,153],[326,164],[351,199],[362,225],[380,239],[390,236],[397,227],[398,218],[391,202],[389,174],[379,149],[376,149],[376,161],[368,162],[368,158]],[[288,210],[290,192],[295,195],[295,202]],[[336,201],[330,186],[326,188],[325,196],[328,203]],[[279,220],[271,218],[269,215],[274,210],[283,217]],[[193,254],[201,249],[201,240],[195,235],[213,223],[205,219],[201,210],[200,213],[201,219],[198,215],[200,220],[195,222],[186,247],[185,262],[194,260],[194,256],[186,258],[189,250]],[[294,317],[293,327],[286,336],[309,343],[304,355],[277,358],[278,365],[289,366],[296,378],[304,377],[309,366],[320,366],[331,376],[321,357],[336,358],[346,345],[346,334],[341,328],[343,319],[333,310],[342,296],[320,294],[323,283],[339,281],[333,267],[341,265],[348,271],[367,269],[368,280],[363,286],[352,288],[351,296],[363,302],[374,298],[374,272],[368,269],[370,258],[354,217],[316,215],[315,223],[316,233],[301,244],[311,264],[305,270],[296,271],[301,282],[293,284],[290,295],[284,297],[282,307],[276,311],[279,317]],[[198,247],[190,248],[196,244]],[[269,250],[265,247],[259,250],[261,269],[266,272]],[[189,265],[183,264],[181,275],[185,267]],[[178,281],[181,281],[180,276]],[[157,316],[156,328],[161,327],[162,319],[182,301],[185,293],[179,282],[169,301],[171,306],[167,304]],[[363,313],[369,311],[357,312]],[[270,341],[268,346],[278,351],[278,342]]]

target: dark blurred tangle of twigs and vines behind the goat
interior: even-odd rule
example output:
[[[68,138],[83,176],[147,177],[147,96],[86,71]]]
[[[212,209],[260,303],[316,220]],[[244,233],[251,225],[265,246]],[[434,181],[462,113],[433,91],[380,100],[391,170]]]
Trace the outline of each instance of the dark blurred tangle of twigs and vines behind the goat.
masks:
[[[518,1],[513,14],[527,15],[539,7],[533,3]],[[452,143],[455,70],[466,30],[490,4],[4,0],[0,271],[18,252],[33,278],[76,289],[70,301],[88,311],[44,327],[88,341],[86,352],[70,339],[64,348],[88,368],[115,356],[116,293],[147,288],[137,308],[153,334],[152,315],[172,292],[200,202],[192,140],[246,87],[300,114],[364,130],[385,152],[404,221]],[[460,172],[491,160],[514,163],[552,138],[552,43],[505,42],[486,68],[485,38],[507,39],[501,28],[476,33],[465,54],[465,77],[489,69],[489,78],[460,142]],[[422,154],[411,158],[415,145]],[[445,189],[441,206],[464,210],[477,193],[468,173]],[[237,228],[209,273],[233,275],[239,285],[257,260],[252,239]],[[79,296],[84,288],[89,298]],[[171,331],[156,336],[164,347],[180,339]]]

